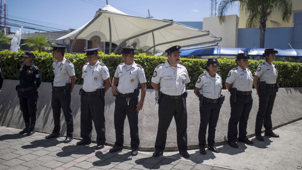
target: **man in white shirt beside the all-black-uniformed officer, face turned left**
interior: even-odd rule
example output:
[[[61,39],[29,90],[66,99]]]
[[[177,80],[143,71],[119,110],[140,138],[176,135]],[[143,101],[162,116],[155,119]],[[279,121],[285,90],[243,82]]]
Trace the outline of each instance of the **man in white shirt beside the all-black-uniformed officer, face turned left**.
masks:
[[[53,74],[55,78],[53,80],[53,91],[51,98],[51,107],[53,109],[53,132],[46,136],[46,139],[56,138],[60,136],[61,128],[61,108],[66,120],[66,139],[64,143],[72,141],[73,134],[73,118],[70,108],[71,92],[76,83],[76,74],[73,64],[66,60],[64,57],[64,46],[52,46],[53,58],[56,61],[53,62]]]

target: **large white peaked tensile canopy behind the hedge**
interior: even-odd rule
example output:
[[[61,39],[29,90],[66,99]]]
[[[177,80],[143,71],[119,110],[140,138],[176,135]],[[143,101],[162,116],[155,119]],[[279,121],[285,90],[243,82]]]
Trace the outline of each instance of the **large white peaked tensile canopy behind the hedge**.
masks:
[[[217,44],[222,38],[172,20],[159,20],[127,15],[111,5],[99,9],[94,18],[85,25],[66,34],[57,40],[71,39],[72,52],[76,39],[92,40],[95,42],[110,42],[117,44],[114,53],[120,47],[133,46],[146,51],[164,52],[171,46],[197,46],[201,44]]]

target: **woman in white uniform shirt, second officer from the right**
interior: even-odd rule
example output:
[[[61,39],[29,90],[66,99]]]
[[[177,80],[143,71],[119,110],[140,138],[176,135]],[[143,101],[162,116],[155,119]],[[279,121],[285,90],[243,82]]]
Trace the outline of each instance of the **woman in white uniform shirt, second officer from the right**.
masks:
[[[249,65],[249,56],[245,53],[240,53],[236,57],[236,63],[238,67],[230,70],[226,78],[226,89],[231,93],[231,117],[228,125],[228,143],[233,148],[238,148],[236,143],[239,122],[239,142],[246,144],[253,144],[246,137],[247,121],[249,119],[249,113],[252,109],[252,86],[253,76],[252,72],[246,68]]]

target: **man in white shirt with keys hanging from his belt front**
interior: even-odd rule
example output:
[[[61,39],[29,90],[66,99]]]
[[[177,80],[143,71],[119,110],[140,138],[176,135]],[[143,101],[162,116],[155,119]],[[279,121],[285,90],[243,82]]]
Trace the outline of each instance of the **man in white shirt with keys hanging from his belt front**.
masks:
[[[123,149],[124,122],[127,115],[130,126],[131,155],[138,154],[140,145],[138,135],[138,112],[142,110],[146,95],[146,77],[141,65],[133,60],[135,48],[121,48],[124,63],[117,66],[112,79],[112,94],[116,96],[114,109],[114,128],[116,141],[109,152],[117,152]],[[116,84],[118,83],[118,86]],[[140,101],[138,102],[139,88],[142,88]]]

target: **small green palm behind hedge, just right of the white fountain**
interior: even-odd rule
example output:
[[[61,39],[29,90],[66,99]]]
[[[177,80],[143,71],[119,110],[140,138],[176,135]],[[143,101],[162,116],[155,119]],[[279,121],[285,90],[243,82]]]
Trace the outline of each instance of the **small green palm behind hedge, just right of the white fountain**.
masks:
[[[47,42],[48,37],[43,35],[36,35],[35,37],[29,37],[24,41],[24,44],[28,47],[34,47],[34,50],[41,52],[42,50],[50,50],[52,47]],[[52,43],[53,44],[53,43]]]

